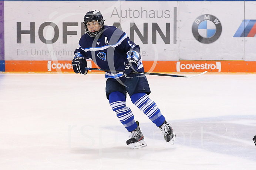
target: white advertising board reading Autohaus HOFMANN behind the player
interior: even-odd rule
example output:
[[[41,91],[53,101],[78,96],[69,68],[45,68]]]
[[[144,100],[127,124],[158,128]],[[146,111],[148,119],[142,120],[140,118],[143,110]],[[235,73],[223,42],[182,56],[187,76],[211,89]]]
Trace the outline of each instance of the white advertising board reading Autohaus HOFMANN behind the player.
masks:
[[[120,25],[143,60],[179,60],[178,1],[5,1],[5,59],[73,59],[92,10]]]

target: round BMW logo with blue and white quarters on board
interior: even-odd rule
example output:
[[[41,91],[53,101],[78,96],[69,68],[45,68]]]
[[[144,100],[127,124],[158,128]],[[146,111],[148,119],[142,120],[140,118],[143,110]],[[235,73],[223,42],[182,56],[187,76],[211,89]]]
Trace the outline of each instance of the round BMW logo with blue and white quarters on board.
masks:
[[[215,42],[220,37],[221,31],[219,19],[210,14],[199,16],[192,25],[195,39],[203,44]]]

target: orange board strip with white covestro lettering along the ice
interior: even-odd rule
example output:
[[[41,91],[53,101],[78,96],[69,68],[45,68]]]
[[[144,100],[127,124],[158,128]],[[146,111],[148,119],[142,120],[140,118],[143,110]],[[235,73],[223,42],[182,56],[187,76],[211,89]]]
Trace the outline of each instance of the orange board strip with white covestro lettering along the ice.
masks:
[[[92,61],[88,67],[98,68]],[[256,62],[245,61],[143,61],[145,72],[245,72],[256,73]],[[71,72],[71,61],[6,61],[6,72]],[[90,72],[99,72],[90,70]]]

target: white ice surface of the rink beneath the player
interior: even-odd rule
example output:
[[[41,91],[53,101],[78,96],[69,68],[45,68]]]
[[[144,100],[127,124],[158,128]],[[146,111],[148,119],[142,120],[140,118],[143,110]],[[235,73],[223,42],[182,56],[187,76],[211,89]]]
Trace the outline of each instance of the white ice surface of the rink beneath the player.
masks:
[[[0,169],[255,169],[256,74],[147,77],[174,146],[128,97],[148,144],[129,149],[104,74],[0,74]]]

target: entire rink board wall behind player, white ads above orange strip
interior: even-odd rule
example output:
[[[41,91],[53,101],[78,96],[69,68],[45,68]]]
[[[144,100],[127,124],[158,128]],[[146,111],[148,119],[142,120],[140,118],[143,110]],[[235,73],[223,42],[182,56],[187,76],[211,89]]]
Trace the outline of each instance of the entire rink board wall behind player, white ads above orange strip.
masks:
[[[82,18],[98,9],[140,46],[145,70],[256,72],[256,1],[91,2],[0,1],[0,71],[72,72]]]

